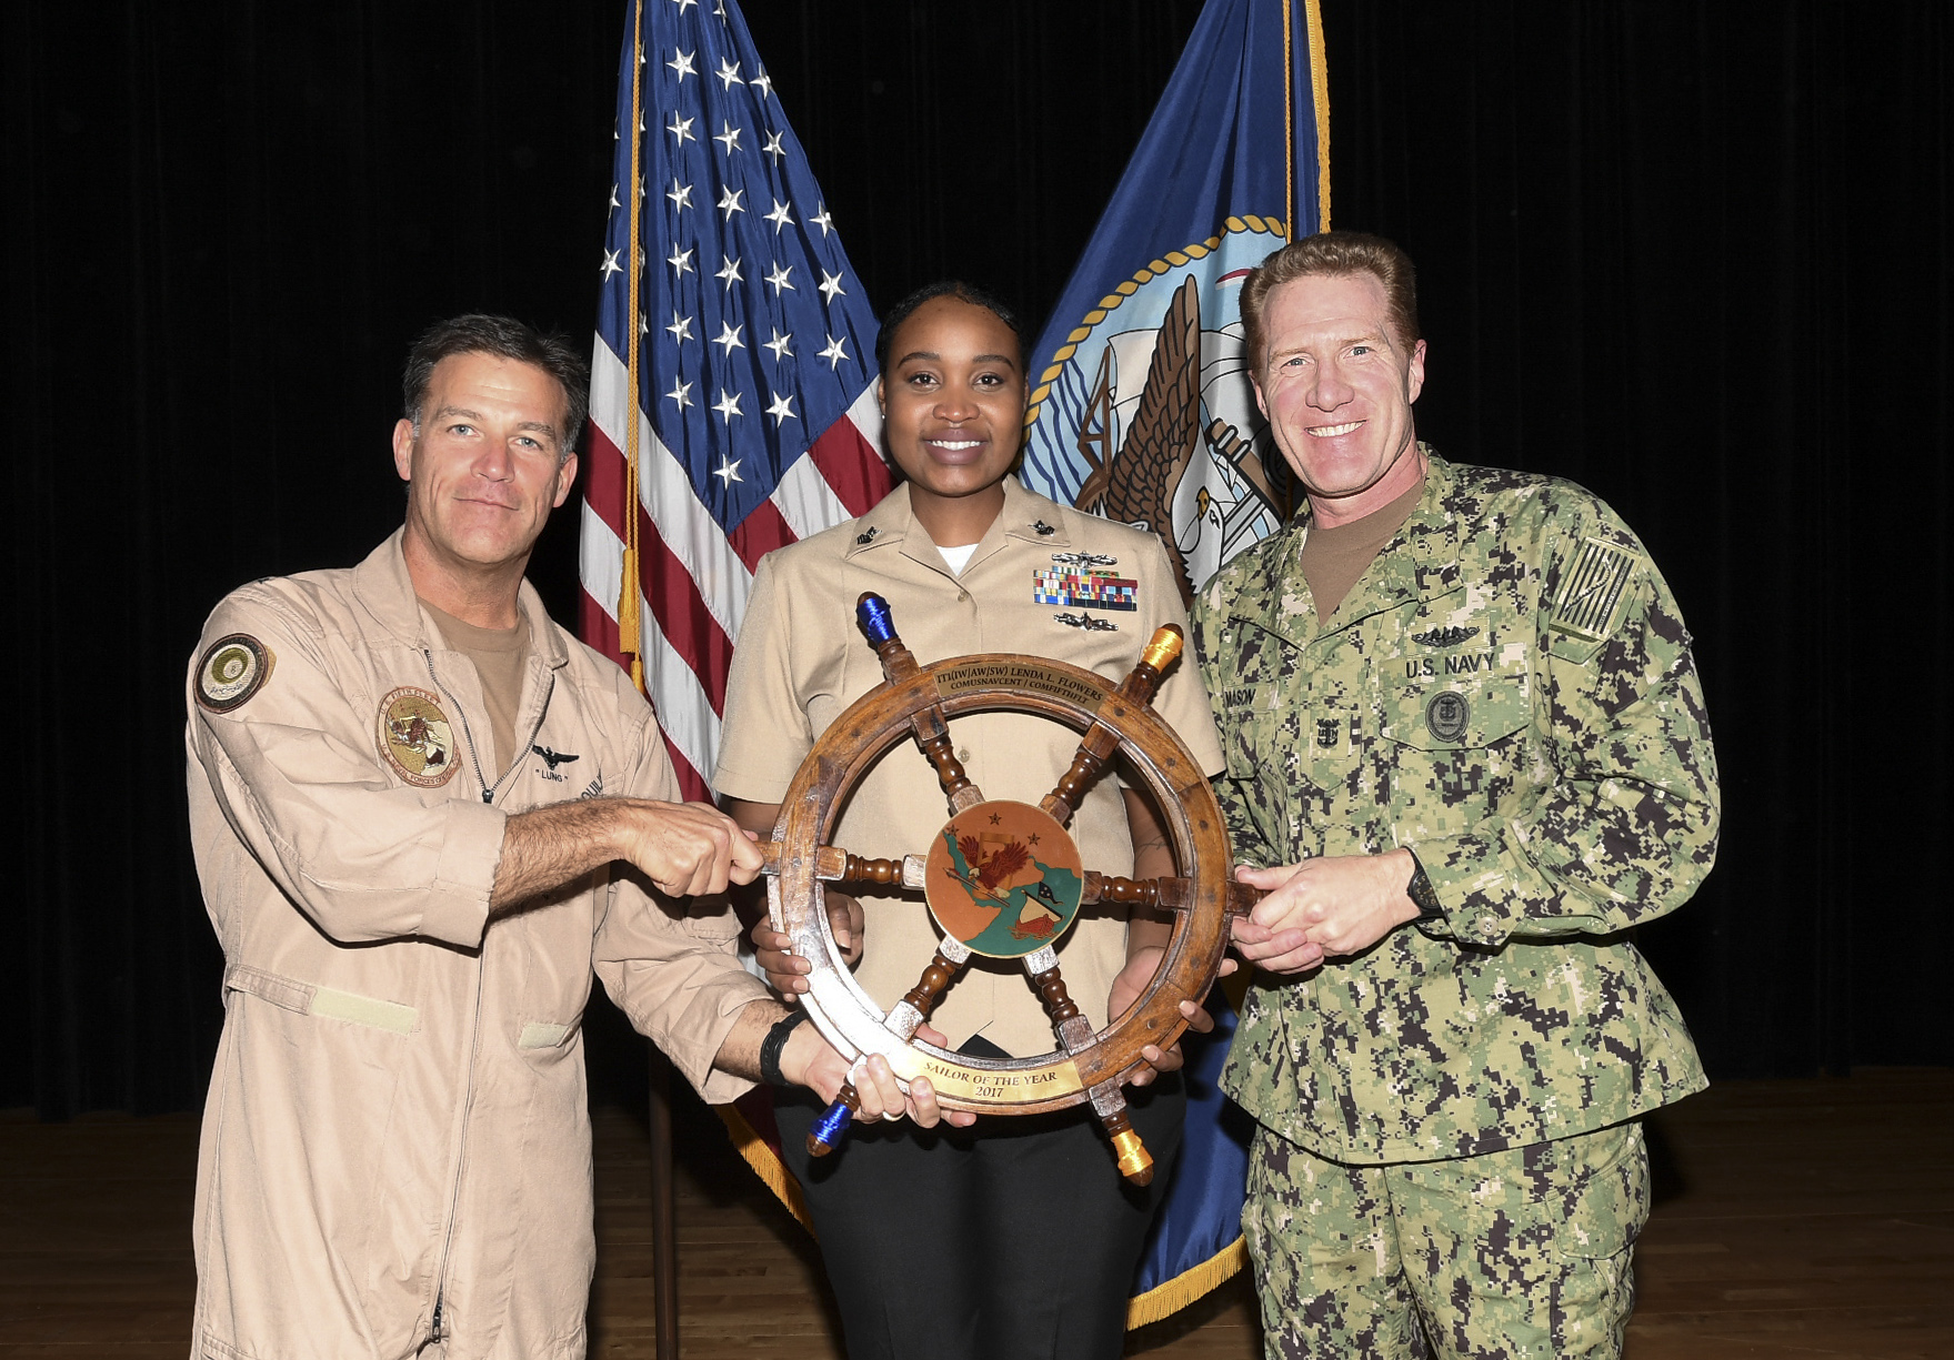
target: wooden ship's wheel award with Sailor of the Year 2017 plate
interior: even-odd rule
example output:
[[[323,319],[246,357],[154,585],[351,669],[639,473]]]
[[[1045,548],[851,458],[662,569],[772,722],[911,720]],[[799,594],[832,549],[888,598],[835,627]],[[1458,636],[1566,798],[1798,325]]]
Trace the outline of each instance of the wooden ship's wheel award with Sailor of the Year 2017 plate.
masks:
[[[1079,666],[1006,653],[918,666],[881,596],[864,594],[856,614],[881,659],[883,684],[815,743],[782,801],[774,844],[764,848],[772,924],[813,965],[801,1004],[840,1053],[881,1053],[905,1086],[926,1077],[946,1108],[1041,1114],[1090,1102],[1112,1137],[1120,1172],[1147,1184],[1153,1159],[1127,1120],[1120,1088],[1147,1067],[1141,1047],[1168,1047],[1180,1038],[1180,1002],[1208,997],[1227,948],[1229,914],[1258,897],[1233,881],[1221,809],[1200,764],[1149,707],[1161,672],[1180,655],[1180,629],[1159,629],[1139,664],[1114,686]],[[1081,733],[1071,768],[1038,807],[987,801],[952,752],[950,719],[983,709],[1036,713]],[[950,803],[936,840],[903,860],[862,860],[827,844],[848,793],[905,739],[914,739],[936,766]],[[1079,860],[1065,827],[1116,752],[1161,809],[1176,875],[1133,881]],[[944,932],[936,957],[887,1014],[840,961],[823,911],[823,885],[850,881],[920,889]],[[1110,1016],[1096,1032],[1067,995],[1053,948],[1079,911],[1094,903],[1172,913],[1172,936],[1153,981],[1126,1014]],[[1057,1049],[1006,1061],[914,1038],[971,954],[1022,959],[1051,1016]],[[811,1153],[838,1141],[852,1100],[854,1090],[844,1086],[815,1122]]]

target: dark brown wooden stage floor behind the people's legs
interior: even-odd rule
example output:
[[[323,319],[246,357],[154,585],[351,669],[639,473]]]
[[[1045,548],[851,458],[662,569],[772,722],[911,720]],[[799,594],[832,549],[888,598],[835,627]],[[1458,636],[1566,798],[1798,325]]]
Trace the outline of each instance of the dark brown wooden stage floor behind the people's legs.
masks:
[[[807,1237],[680,1108],[686,1360],[838,1358]],[[600,1110],[592,1354],[653,1354],[641,1116]],[[0,1360],[188,1352],[191,1116],[0,1114]],[[1651,1122],[1634,1360],[1954,1356],[1954,1071],[1721,1083]],[[1260,1354],[1247,1280],[1129,1337],[1157,1360]]]

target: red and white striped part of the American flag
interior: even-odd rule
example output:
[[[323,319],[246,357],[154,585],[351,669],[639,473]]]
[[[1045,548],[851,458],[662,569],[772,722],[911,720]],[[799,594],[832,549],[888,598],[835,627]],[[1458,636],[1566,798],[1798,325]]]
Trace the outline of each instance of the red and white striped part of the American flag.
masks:
[[[590,367],[590,436],[584,453],[580,635],[617,664],[617,596],[623,580],[625,420],[637,420],[639,619],[645,688],[686,797],[709,797],[719,754],[733,641],[760,557],[864,514],[889,492],[877,453],[881,414],[866,387],[795,461],[774,494],[723,533],[684,467],[629,399],[629,369],[600,336]]]

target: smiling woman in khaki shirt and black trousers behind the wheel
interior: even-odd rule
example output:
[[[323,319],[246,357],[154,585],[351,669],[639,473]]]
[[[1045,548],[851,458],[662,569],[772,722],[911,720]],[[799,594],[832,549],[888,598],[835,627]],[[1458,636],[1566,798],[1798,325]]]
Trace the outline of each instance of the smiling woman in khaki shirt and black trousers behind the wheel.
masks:
[[[864,590],[889,600],[903,641],[924,664],[983,651],[1036,653],[1120,680],[1161,623],[1186,623],[1159,541],[1026,490],[1010,467],[1024,432],[1024,344],[1010,315],[961,283],[905,299],[883,322],[879,399],[889,455],[905,473],[881,504],[770,553],[727,686],[725,746],[713,784],[748,829],[770,834],[801,758],[854,700],[881,680],[854,627]],[[1053,578],[1090,573],[1088,604],[1040,602]],[[1043,580],[1041,580],[1043,576]],[[1100,580],[1104,576],[1104,580]],[[1161,686],[1159,711],[1204,772],[1221,750],[1192,666]],[[1018,713],[952,721],[957,758],[993,799],[1038,803],[1065,774],[1077,735]],[[924,850],[946,819],[930,764],[909,744],[860,784],[834,842],[854,854]],[[1172,873],[1147,801],[1100,780],[1073,821],[1088,868]],[[928,963],[936,930],[914,897],[830,895],[836,938],[856,979],[889,1008]],[[1159,965],[1168,924],[1083,914],[1059,944],[1073,999],[1094,1028],[1124,1010]],[[762,965],[805,991],[786,936],[754,930]],[[1184,1004],[1190,1022],[1206,1012]],[[938,1004],[928,1036],[981,1057],[1057,1047],[1051,1022],[1010,959],[975,957]],[[809,1165],[817,1110],[776,1092],[782,1143],[801,1178],[840,1301],[854,1360],[920,1354],[971,1360],[1118,1356],[1126,1301],[1153,1210],[1180,1145],[1178,1051],[1145,1049],[1163,1079],[1133,1096],[1133,1124],[1157,1159],[1147,1190],[1126,1186],[1090,1110],[973,1124],[954,1114],[916,1133],[856,1126],[830,1159]]]

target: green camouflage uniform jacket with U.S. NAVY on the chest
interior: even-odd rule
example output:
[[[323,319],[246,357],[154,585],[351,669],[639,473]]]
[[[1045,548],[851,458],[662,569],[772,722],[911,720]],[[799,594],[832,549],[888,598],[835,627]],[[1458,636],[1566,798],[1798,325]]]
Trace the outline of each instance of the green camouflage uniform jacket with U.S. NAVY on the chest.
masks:
[[[1299,979],[1260,975],[1223,1084],[1333,1161],[1469,1157],[1700,1090],[1626,930],[1716,858],[1682,617],[1581,487],[1430,457],[1319,627],[1299,520],[1223,567],[1194,643],[1235,856],[1417,852],[1444,907]]]

